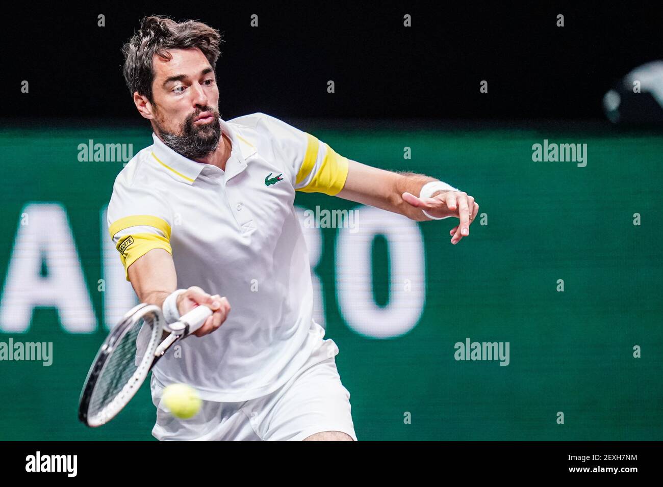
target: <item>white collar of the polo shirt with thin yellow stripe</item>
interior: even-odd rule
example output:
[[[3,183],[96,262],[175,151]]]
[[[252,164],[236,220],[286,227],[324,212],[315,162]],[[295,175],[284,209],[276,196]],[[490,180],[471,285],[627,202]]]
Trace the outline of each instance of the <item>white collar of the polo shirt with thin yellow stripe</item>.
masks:
[[[246,160],[255,154],[256,148],[245,138],[235,134],[231,126],[223,121],[221,117],[219,117],[219,125],[221,125],[221,132],[230,138],[232,144],[231,154],[225,164],[226,177],[231,178],[245,170]],[[182,156],[182,154],[178,154],[178,152],[164,144],[155,133],[152,133],[152,140],[154,141],[151,153],[152,159],[177,181],[194,184],[203,168],[208,166],[204,162],[196,162]]]

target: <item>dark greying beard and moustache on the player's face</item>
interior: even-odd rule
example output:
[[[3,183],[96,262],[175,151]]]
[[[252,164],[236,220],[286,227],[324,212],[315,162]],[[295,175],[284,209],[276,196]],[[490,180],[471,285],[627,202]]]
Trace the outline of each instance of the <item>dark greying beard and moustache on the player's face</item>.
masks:
[[[204,111],[208,111],[213,115],[213,121],[205,125],[194,125],[196,117]],[[180,127],[179,134],[164,130],[156,119],[154,123],[164,144],[187,159],[204,158],[216,150],[219,146],[219,140],[221,140],[219,111],[211,109],[211,107],[206,107],[204,110],[192,113],[186,117],[186,120]]]

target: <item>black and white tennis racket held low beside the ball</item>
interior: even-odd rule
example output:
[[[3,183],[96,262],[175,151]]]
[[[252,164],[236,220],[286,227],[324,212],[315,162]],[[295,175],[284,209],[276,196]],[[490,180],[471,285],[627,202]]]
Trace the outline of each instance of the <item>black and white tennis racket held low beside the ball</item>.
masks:
[[[78,404],[78,419],[91,427],[113,419],[168,348],[198,330],[211,314],[209,307],[198,305],[167,325],[156,305],[141,303],[129,310],[92,362]],[[164,331],[170,335],[162,340]]]

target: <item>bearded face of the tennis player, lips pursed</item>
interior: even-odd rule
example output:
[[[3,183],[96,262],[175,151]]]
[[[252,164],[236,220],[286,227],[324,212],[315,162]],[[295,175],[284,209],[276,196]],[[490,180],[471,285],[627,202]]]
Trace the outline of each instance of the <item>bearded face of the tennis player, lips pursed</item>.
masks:
[[[172,150],[199,159],[216,150],[221,140],[214,70],[198,48],[169,52],[171,60],[155,55],[152,64],[154,129]]]

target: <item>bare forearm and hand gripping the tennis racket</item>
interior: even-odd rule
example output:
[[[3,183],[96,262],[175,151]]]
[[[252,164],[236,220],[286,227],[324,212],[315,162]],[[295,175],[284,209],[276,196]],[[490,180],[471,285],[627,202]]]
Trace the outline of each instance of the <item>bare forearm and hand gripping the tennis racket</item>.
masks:
[[[177,289],[177,274],[170,253],[163,248],[152,248],[137,258],[127,269],[131,286],[141,303],[163,307],[164,299]],[[223,324],[229,311],[230,303],[218,294],[210,296],[201,288],[188,288],[177,298],[180,316],[191,311],[197,305],[207,305],[214,311],[204,325],[194,333],[202,337]]]

